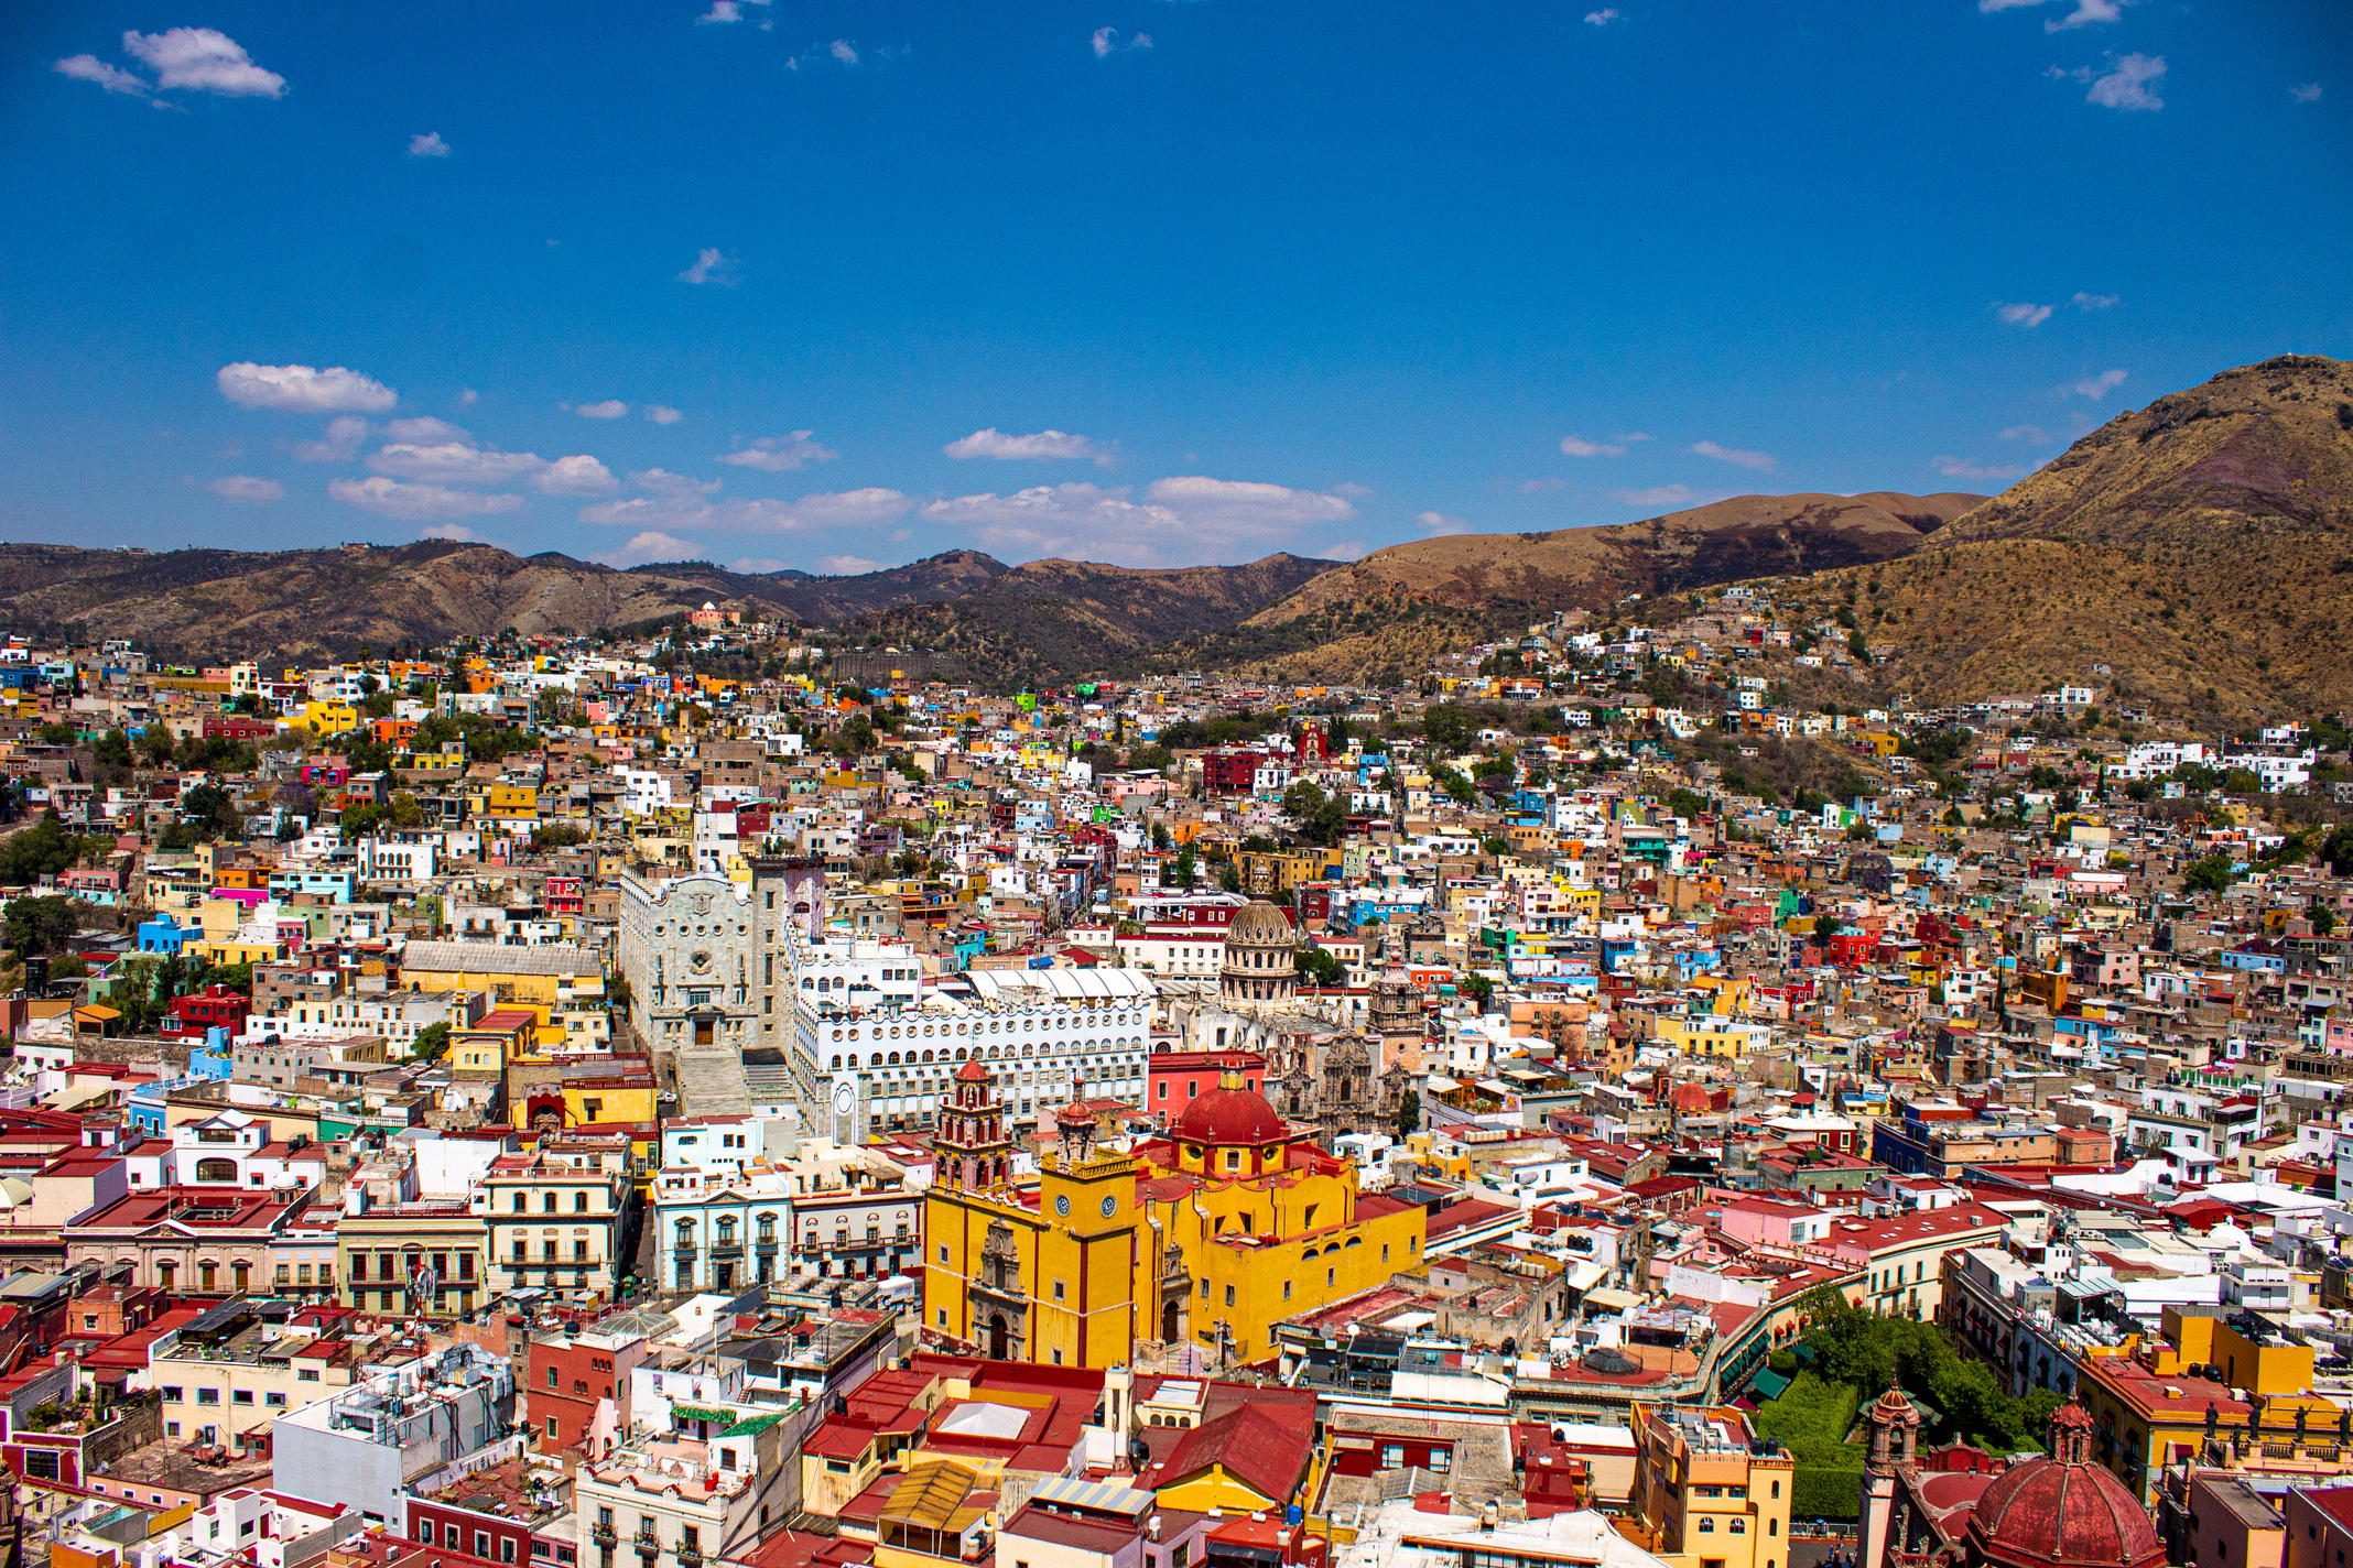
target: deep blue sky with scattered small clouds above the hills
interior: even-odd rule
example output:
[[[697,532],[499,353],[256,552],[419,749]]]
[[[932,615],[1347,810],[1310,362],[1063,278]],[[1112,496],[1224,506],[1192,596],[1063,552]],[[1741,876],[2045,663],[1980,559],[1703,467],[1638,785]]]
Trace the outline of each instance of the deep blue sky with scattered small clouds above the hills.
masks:
[[[1993,491],[2353,357],[2348,63],[2327,0],[16,7],[0,536],[1193,564]]]

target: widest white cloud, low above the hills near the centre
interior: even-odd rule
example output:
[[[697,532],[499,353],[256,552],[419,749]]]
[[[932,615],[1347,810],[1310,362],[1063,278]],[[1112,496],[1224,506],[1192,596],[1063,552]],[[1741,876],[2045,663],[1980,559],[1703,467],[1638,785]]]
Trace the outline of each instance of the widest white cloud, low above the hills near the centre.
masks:
[[[922,517],[969,527],[995,552],[1165,567],[1287,545],[1308,527],[1355,517],[1355,508],[1327,491],[1181,475],[1153,482],[1141,501],[1125,484],[1038,484],[929,501]]]

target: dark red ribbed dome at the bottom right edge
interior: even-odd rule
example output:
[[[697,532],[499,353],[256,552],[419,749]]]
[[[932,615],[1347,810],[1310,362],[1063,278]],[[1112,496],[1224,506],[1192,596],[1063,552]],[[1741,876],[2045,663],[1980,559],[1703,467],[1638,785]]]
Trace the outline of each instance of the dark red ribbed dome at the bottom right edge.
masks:
[[[2026,1460],[1969,1512],[1969,1559],[1988,1568],[2155,1568],[2165,1542],[2148,1509],[2087,1458],[2082,1406],[2052,1415],[2052,1455]]]

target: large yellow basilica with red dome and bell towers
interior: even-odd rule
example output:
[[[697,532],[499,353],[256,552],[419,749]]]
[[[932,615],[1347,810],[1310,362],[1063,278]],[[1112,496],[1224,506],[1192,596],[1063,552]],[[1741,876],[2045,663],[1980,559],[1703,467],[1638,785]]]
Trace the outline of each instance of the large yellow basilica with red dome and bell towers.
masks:
[[[934,1335],[1052,1366],[1125,1366],[1136,1340],[1261,1361],[1282,1319],[1421,1272],[1421,1208],[1360,1197],[1355,1164],[1233,1067],[1132,1152],[1099,1147],[1075,1107],[1056,1133],[1016,1187],[988,1070],[955,1070],[922,1215]]]

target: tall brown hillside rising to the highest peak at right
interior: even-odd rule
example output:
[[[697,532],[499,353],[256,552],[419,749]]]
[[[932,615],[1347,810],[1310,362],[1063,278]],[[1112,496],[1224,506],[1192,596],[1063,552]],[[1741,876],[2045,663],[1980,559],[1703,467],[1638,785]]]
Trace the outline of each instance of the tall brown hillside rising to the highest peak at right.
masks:
[[[1882,672],[1932,701],[2080,682],[2172,712],[2353,708],[2353,364],[2266,360],[2125,411],[1807,597],[1847,588]]]

